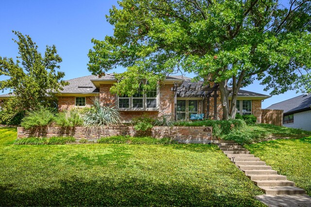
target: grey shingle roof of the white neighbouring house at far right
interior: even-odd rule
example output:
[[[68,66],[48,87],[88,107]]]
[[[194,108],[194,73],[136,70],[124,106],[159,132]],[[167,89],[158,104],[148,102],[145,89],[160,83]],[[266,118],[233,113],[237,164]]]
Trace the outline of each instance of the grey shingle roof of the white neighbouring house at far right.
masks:
[[[283,102],[270,105],[267,109],[283,109],[285,113],[311,110],[311,94],[300,95]]]

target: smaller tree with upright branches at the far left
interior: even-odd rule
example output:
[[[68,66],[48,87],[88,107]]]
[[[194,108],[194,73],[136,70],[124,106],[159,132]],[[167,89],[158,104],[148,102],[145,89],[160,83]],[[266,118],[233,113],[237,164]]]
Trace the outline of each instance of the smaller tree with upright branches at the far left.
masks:
[[[56,47],[46,46],[44,56],[38,52],[38,46],[29,35],[17,35],[18,45],[16,61],[13,58],[0,56],[0,75],[8,79],[0,81],[0,89],[9,89],[10,96],[1,104],[2,121],[10,121],[18,112],[32,110],[38,106],[51,106],[55,98],[53,92],[59,92],[67,85],[62,78],[64,72],[58,65],[62,58],[57,54]]]

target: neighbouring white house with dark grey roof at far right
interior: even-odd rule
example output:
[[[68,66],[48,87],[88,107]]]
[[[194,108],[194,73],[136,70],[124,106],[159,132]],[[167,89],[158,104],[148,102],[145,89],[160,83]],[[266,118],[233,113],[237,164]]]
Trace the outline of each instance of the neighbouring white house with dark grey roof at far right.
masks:
[[[283,126],[311,131],[311,94],[270,105],[283,110]]]

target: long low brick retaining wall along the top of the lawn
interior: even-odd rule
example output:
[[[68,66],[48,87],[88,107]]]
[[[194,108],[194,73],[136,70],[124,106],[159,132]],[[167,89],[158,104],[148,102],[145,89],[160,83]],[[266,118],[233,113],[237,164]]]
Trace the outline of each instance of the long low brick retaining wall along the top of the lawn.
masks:
[[[151,130],[139,132],[133,126],[109,126],[101,129],[86,127],[42,127],[34,129],[24,129],[17,127],[17,138],[28,137],[55,137],[72,136],[76,140],[86,138],[89,141],[96,141],[102,137],[129,135],[129,136],[152,136],[154,138],[172,138],[183,143],[204,142],[213,139],[212,127],[205,126],[154,126]],[[201,140],[201,142],[200,142]]]

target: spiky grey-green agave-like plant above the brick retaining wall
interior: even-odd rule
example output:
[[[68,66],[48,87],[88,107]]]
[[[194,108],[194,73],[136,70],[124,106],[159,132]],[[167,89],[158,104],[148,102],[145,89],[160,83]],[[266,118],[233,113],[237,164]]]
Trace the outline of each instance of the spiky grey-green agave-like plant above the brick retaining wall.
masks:
[[[93,106],[84,114],[84,124],[88,127],[121,123],[120,113],[115,107],[103,106],[98,96],[91,98]]]

